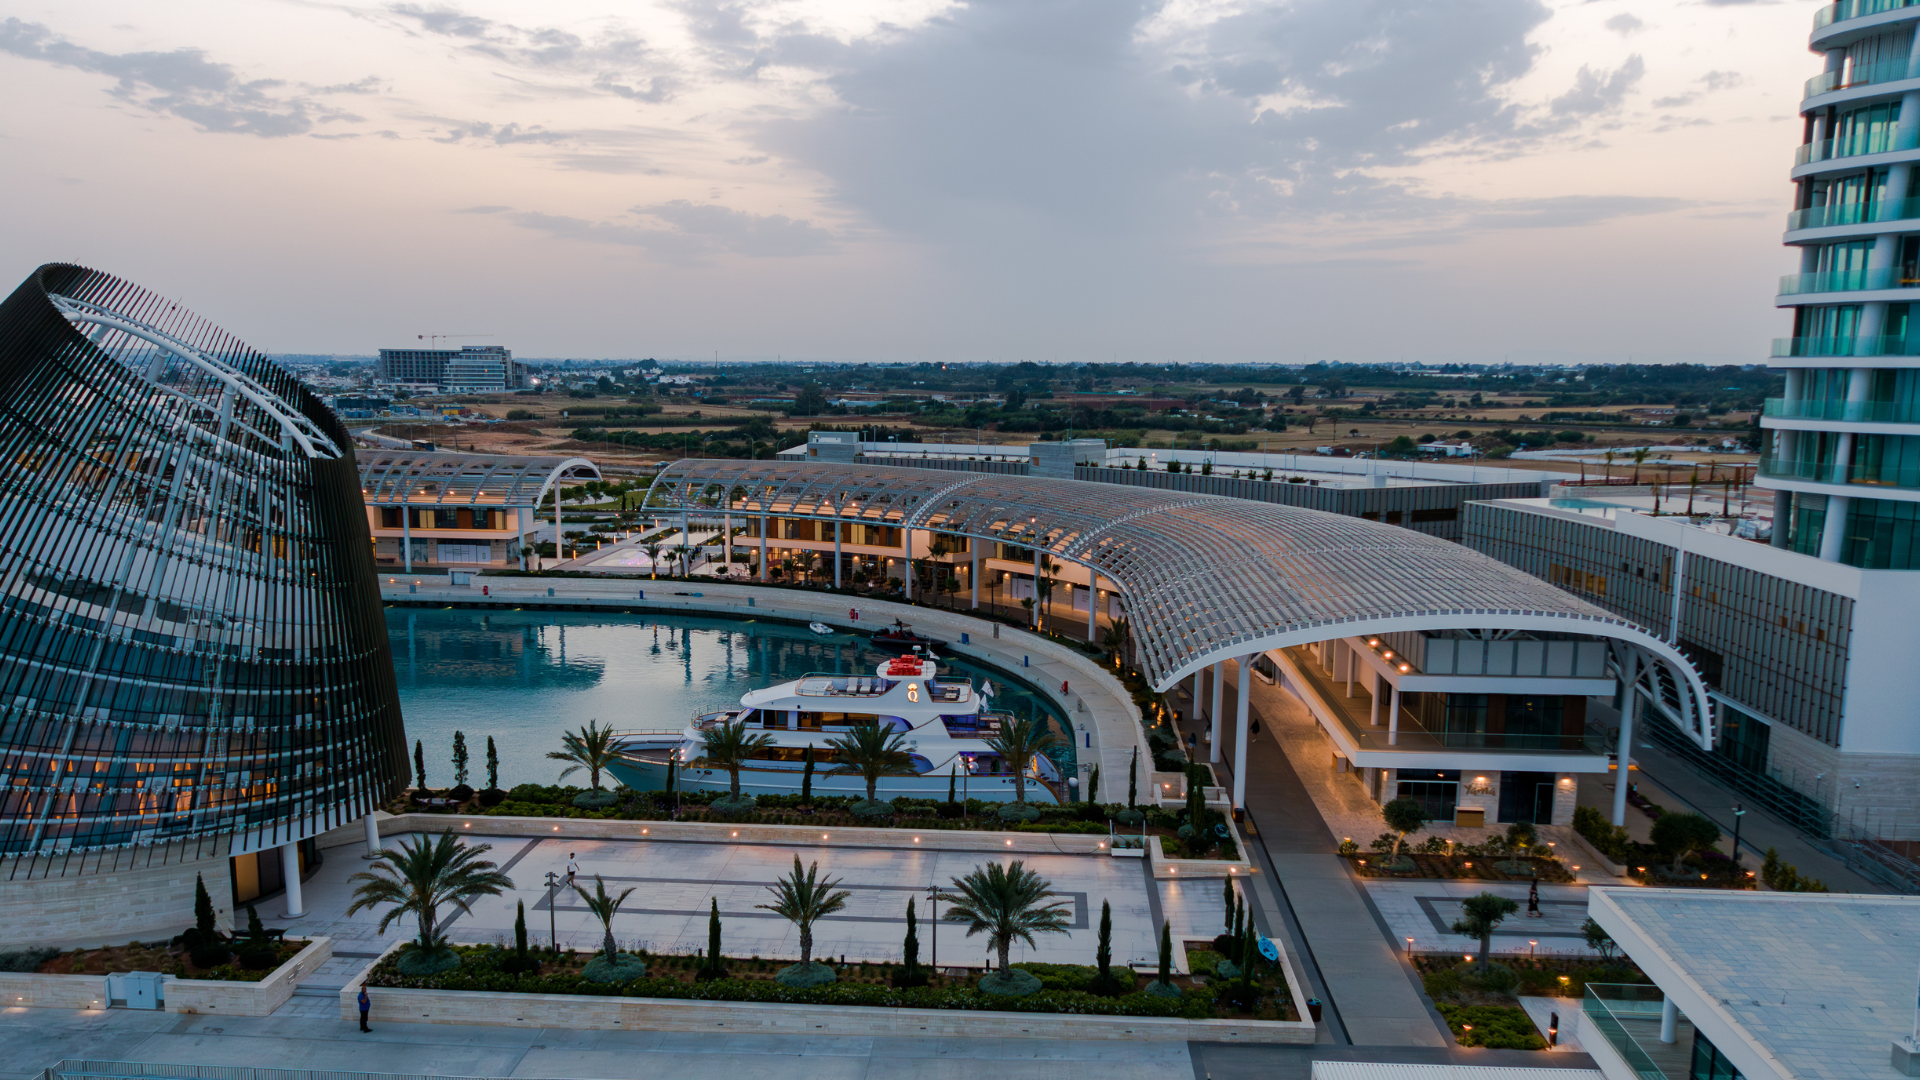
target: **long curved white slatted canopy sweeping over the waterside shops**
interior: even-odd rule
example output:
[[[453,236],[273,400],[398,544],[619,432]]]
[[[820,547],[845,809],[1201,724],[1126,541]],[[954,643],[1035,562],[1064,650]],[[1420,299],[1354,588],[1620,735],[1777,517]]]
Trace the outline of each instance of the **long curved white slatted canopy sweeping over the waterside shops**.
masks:
[[[1665,665],[1711,746],[1707,686],[1670,644],[1532,575],[1411,528],[1225,496],[864,463],[687,459],[647,505],[929,528],[1037,548],[1121,586],[1158,690],[1229,657],[1402,630],[1609,638]]]

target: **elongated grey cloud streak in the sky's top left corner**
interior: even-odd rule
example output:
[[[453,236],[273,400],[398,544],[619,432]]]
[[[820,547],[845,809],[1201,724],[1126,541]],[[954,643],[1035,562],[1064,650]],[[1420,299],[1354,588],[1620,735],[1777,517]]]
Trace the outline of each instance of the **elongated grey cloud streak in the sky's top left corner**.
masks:
[[[357,119],[301,94],[286,94],[276,79],[242,79],[198,48],[171,52],[100,52],[56,35],[40,23],[0,23],[0,52],[113,79],[111,96],[177,115],[200,131],[284,138],[307,135],[317,123]],[[338,90],[317,90],[338,92]]]

